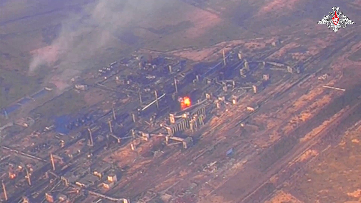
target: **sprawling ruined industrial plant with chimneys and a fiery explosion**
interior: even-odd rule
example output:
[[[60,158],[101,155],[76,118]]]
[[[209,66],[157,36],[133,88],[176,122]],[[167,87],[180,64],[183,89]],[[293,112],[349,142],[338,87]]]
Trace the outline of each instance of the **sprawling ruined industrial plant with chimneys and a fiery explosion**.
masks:
[[[139,165],[154,161],[161,167],[171,156],[179,159],[189,156],[192,161],[188,165],[194,165],[223,140],[197,150],[197,155],[181,155],[196,148],[210,126],[217,126],[212,124],[214,118],[235,111],[233,107],[242,105],[245,98],[259,94],[260,100],[244,106],[242,111],[246,114],[237,126],[258,128],[247,119],[270,98],[287,91],[264,96],[264,92],[270,91],[268,86],[289,79],[300,83],[310,75],[303,74],[301,65],[245,58],[240,47],[220,50],[220,53],[215,62],[191,66],[190,61],[182,58],[135,52],[109,66],[84,73],[83,77],[73,78],[66,92],[90,92],[94,95],[91,99],[99,102],[53,121],[44,122],[38,111],[41,107],[15,122],[10,122],[9,117],[22,103],[51,94],[54,87],[46,87],[4,108],[2,116],[9,124],[1,128],[0,137],[5,155],[0,160],[2,202],[183,203],[197,200],[194,191],[200,185],[195,182],[187,189],[181,186],[183,190],[171,192],[177,187],[175,181],[159,193],[148,188],[154,187],[151,182],[143,183],[146,180],[130,177],[142,174],[147,168]],[[100,91],[104,96],[97,99],[92,91]],[[45,103],[60,100],[61,96]],[[257,146],[247,147],[257,149]],[[118,151],[122,152],[120,157],[114,158]],[[234,151],[228,148],[221,154],[228,157]],[[197,170],[224,172],[232,161],[235,159],[213,161]],[[160,179],[172,174],[162,170],[159,173],[164,173]],[[143,187],[139,188],[142,183]],[[137,187],[139,192],[131,189]],[[128,190],[133,192],[127,193]]]

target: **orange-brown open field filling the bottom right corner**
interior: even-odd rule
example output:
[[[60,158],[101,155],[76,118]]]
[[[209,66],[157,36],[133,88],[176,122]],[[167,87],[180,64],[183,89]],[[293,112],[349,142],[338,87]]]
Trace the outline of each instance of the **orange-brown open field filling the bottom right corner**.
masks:
[[[306,157],[303,160],[308,162],[306,166],[280,186],[283,194],[276,194],[268,203],[277,203],[276,199],[284,194],[300,203],[359,202],[360,130],[360,122],[357,122],[342,134],[338,144]]]

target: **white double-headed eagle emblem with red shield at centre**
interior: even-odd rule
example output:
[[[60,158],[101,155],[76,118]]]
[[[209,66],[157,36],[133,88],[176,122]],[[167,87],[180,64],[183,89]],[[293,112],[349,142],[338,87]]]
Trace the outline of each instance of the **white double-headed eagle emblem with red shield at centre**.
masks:
[[[334,30],[335,33],[337,33],[340,27],[345,28],[347,24],[355,24],[346,16],[341,16],[341,18],[339,18],[339,16],[342,14],[342,12],[339,12],[339,9],[339,7],[332,7],[334,13],[329,12],[331,16],[324,16],[324,18],[317,24],[327,24],[327,27],[329,29],[332,27],[332,30]],[[331,26],[329,26],[329,23]]]

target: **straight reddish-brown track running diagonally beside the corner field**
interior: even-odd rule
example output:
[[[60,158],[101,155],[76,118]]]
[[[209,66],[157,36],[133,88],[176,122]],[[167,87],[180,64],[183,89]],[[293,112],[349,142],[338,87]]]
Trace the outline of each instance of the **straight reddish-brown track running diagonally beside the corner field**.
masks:
[[[276,185],[269,182],[270,177],[272,177],[274,174],[281,172],[282,170],[285,170],[287,168],[288,163],[290,163],[292,160],[297,159],[297,157],[302,155],[305,151],[309,150],[310,148],[314,147],[319,142],[322,142],[325,139],[326,135],[329,135],[332,133],[332,131],[335,131],[338,128],[339,124],[342,123],[342,121],[346,120],[353,112],[357,111],[357,109],[360,108],[361,108],[361,100],[358,101],[356,104],[353,104],[351,107],[348,107],[347,110],[343,112],[340,117],[336,118],[334,121],[327,124],[312,139],[310,139],[306,143],[298,143],[295,147],[291,149],[293,151],[290,155],[286,157],[282,157],[281,159],[273,163],[264,173],[264,176],[258,178],[258,180],[262,181],[263,183],[261,183],[261,185],[257,187],[249,187],[248,192],[246,192],[247,195],[243,196],[238,201],[238,203],[255,203],[255,202],[260,202],[265,198],[267,198],[274,190],[277,189]],[[324,145],[326,144],[324,143]],[[286,180],[287,177],[283,177],[282,179]]]

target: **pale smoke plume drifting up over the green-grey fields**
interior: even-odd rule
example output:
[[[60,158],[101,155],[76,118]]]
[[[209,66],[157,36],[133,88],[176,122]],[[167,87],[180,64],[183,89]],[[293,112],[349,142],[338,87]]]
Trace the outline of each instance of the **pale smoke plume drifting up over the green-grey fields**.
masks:
[[[80,13],[69,14],[61,23],[58,38],[46,50],[33,55],[29,73],[42,65],[51,67],[57,61],[57,78],[68,81],[93,67],[90,59],[112,46],[114,40],[118,40],[117,35],[139,21],[149,22],[168,6],[171,6],[168,0],[99,0],[86,5]]]

